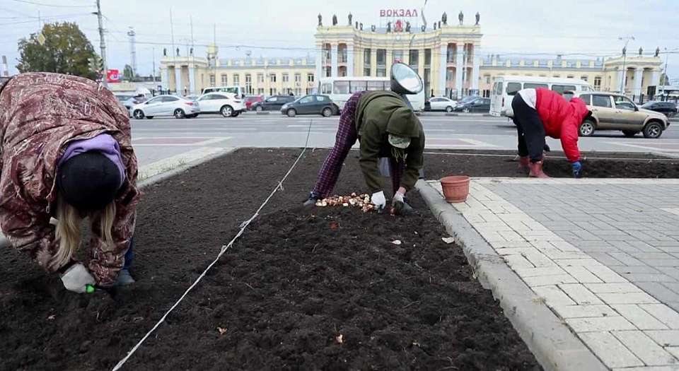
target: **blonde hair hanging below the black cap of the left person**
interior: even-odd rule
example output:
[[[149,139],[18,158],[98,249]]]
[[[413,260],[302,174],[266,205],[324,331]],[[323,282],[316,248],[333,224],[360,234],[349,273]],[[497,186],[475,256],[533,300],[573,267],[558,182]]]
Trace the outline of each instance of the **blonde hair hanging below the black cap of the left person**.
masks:
[[[103,238],[105,245],[112,247],[113,245],[113,222],[115,221],[115,202],[111,202],[103,209],[88,212],[91,229],[94,230],[95,223],[98,222],[98,228]],[[52,266],[59,268],[68,263],[73,254],[80,247],[81,233],[80,226],[83,221],[80,211],[71,206],[64,200],[64,197],[59,194],[57,197],[57,230],[56,237],[59,242],[59,249],[57,254],[52,259]]]

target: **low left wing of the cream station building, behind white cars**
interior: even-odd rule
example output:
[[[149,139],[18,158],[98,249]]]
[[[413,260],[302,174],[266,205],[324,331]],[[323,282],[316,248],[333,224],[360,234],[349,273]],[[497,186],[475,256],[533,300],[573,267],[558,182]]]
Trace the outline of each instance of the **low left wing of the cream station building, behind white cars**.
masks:
[[[216,50],[216,49],[213,49]],[[315,87],[311,58],[165,57],[161,61],[163,90],[200,94],[210,86],[242,86],[249,95],[310,94]]]

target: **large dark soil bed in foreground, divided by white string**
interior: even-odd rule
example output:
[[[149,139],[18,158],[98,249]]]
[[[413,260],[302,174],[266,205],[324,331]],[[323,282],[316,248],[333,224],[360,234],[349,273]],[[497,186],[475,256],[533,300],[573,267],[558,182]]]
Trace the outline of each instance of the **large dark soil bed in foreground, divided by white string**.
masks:
[[[231,240],[298,152],[243,149],[146,189],[132,269],[138,281],[114,295],[67,293],[25,255],[1,250],[0,369],[110,369]],[[417,212],[404,218],[298,207],[326,153],[306,155],[284,192],[126,369],[539,369],[461,249],[441,241],[446,233],[417,194],[410,195]],[[337,193],[364,187],[352,153]]]

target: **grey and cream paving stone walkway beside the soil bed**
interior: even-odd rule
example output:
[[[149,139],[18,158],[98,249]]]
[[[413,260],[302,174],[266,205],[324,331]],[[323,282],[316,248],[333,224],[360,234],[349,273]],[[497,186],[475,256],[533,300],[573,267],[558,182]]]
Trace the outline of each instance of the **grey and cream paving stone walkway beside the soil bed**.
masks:
[[[679,370],[679,179],[476,178],[453,206],[605,365]]]

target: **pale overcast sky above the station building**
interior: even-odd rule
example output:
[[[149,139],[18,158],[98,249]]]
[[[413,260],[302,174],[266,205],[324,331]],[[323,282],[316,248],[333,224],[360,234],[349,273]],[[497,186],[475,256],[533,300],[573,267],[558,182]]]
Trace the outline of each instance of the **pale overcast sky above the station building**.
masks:
[[[170,8],[173,15],[175,44],[191,39],[193,20],[195,45],[207,45],[214,37],[220,46],[220,57],[242,57],[251,51],[259,56],[304,56],[313,54],[317,14],[330,24],[336,13],[339,22],[347,23],[347,13],[354,20],[379,25],[381,8],[416,8],[424,0],[406,1],[233,1],[233,0],[101,0],[108,29],[109,68],[120,69],[130,62],[129,26],[137,32],[137,64],[139,73],[149,75],[153,48],[156,68],[163,47],[171,43]],[[523,2],[523,6],[517,6]],[[35,3],[35,4],[29,4]],[[99,51],[95,0],[2,0],[0,1],[0,55],[6,55],[11,73],[16,73],[16,42],[35,33],[39,27],[38,12],[43,22],[75,21]],[[368,4],[368,5],[366,5]],[[457,23],[458,13],[465,13],[465,23],[473,23],[481,14],[484,37],[480,54],[586,54],[589,57],[620,54],[620,36],[633,35],[636,40],[628,49],[636,54],[639,47],[646,52],[679,50],[679,37],[673,24],[679,16],[676,0],[569,0],[569,1],[478,1],[429,0],[424,14],[431,24],[448,13],[448,23]],[[417,20],[421,22],[421,18]],[[154,45],[158,44],[158,45]],[[236,45],[246,45],[236,47]],[[182,55],[185,47],[181,46]],[[168,47],[168,49],[170,49]],[[196,47],[196,55],[205,48]],[[668,74],[679,78],[679,54],[668,54]],[[664,59],[664,57],[663,57]]]

